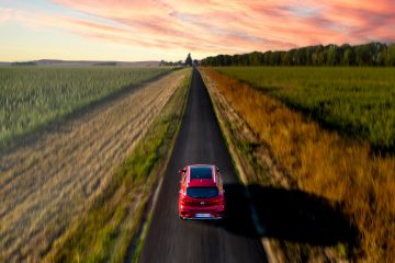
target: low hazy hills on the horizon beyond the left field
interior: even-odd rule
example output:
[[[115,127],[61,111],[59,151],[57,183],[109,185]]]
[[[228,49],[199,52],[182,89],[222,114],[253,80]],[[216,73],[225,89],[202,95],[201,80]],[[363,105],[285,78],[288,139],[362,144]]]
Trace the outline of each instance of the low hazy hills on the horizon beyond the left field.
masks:
[[[87,66],[121,66],[121,67],[158,67],[160,61],[91,61],[91,60],[60,60],[60,59],[40,59],[29,61],[37,66],[54,67],[87,67]],[[22,62],[13,62],[14,65]],[[12,62],[1,62],[0,66],[11,66]]]

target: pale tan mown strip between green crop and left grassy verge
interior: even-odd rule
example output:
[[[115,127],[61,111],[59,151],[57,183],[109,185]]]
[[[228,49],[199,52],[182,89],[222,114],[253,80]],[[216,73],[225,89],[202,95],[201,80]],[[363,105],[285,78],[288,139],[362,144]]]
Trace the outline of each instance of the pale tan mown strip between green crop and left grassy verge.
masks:
[[[38,261],[131,153],[187,72],[176,71],[0,156],[0,259]]]

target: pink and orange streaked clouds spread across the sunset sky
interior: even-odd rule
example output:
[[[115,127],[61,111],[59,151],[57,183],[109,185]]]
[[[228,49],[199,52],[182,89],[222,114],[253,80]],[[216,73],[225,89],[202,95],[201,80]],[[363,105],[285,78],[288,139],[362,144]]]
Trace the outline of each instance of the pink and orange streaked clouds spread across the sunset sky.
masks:
[[[395,1],[53,0],[104,19],[61,18],[76,34],[200,54],[289,49],[315,44],[395,42]],[[10,11],[0,14],[10,16]],[[1,15],[2,18],[4,15]],[[48,23],[53,20],[47,14]],[[2,19],[4,20],[4,19]],[[105,22],[108,21],[108,22]],[[0,20],[1,22],[1,20]]]

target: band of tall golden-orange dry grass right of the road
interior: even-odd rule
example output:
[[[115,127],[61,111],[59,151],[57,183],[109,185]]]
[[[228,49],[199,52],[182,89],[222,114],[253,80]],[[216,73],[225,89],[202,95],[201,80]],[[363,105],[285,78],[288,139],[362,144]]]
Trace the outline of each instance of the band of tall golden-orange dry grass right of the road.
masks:
[[[297,188],[341,204],[359,230],[358,260],[391,262],[395,250],[395,158],[320,128],[245,83],[203,70],[281,163]],[[264,175],[249,182],[264,184]]]

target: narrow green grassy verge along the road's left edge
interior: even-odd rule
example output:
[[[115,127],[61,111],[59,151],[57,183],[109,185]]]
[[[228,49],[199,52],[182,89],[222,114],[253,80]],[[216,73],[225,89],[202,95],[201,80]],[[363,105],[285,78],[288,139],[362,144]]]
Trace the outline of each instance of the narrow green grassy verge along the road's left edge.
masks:
[[[71,224],[55,242],[44,262],[124,261],[154,185],[170,157],[187,102],[188,76],[115,172],[108,188],[94,201],[89,213]]]

